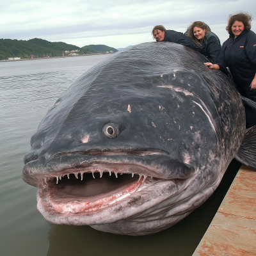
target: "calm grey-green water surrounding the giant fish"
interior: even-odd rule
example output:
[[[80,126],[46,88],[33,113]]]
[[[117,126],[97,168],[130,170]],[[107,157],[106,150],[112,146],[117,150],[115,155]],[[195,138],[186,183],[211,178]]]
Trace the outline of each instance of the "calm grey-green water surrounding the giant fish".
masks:
[[[36,188],[20,178],[29,140],[56,99],[107,55],[0,62],[0,255],[192,255],[240,164],[232,161],[204,205],[152,236],[58,226],[36,210]]]

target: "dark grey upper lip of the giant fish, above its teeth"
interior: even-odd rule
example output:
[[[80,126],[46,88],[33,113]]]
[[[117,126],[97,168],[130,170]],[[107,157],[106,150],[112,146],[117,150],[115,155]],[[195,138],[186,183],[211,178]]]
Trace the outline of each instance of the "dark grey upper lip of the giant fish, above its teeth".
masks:
[[[120,166],[122,170],[120,170]],[[196,172],[194,166],[159,152],[147,156],[61,154],[48,162],[45,162],[44,157],[39,157],[25,164],[22,179],[28,184],[40,188],[47,183],[47,180],[58,176],[97,172],[97,170],[98,172],[106,170],[105,172],[111,173],[134,173],[144,177],[166,180],[187,179]]]

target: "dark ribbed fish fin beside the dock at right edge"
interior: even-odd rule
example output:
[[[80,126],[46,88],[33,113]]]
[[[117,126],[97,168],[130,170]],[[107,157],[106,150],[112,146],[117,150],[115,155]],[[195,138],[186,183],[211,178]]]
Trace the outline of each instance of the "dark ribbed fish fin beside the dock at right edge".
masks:
[[[242,164],[256,168],[256,125],[245,132],[243,143],[235,159]]]

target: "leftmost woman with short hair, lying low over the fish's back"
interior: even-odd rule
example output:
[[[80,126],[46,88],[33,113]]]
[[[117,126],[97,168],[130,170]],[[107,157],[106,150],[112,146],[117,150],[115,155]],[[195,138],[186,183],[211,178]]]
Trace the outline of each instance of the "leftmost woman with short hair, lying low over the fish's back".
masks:
[[[166,30],[162,25],[155,26],[152,30],[152,35],[157,42],[172,42],[182,44],[196,50],[195,46],[192,44],[191,38],[174,30]]]

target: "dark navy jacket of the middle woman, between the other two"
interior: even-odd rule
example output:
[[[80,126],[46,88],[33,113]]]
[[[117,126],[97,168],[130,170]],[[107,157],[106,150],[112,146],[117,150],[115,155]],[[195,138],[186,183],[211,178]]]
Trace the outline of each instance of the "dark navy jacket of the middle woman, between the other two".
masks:
[[[218,56],[221,52],[220,39],[211,31],[207,36],[204,36],[204,41],[202,43],[202,52],[207,58],[211,59],[213,63],[216,63]]]

